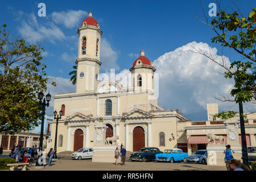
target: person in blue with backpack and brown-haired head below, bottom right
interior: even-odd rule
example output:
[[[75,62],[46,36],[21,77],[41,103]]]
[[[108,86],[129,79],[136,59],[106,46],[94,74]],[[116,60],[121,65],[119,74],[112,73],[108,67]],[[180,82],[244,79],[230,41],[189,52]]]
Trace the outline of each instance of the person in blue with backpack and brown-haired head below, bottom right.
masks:
[[[226,169],[228,171],[250,171],[250,168],[241,163],[241,160],[234,159],[232,153],[234,154],[234,151],[228,144],[224,150]]]

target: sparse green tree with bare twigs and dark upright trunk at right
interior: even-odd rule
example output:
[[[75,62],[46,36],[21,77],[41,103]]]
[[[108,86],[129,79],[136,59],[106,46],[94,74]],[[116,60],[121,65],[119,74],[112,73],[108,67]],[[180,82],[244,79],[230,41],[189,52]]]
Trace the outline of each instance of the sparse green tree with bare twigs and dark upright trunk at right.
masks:
[[[229,98],[222,96],[218,98],[221,101],[234,101],[239,105],[240,111],[240,127],[242,135],[242,159],[243,163],[249,167],[246,139],[245,139],[245,126],[244,126],[244,115],[242,103],[254,102],[255,101],[255,62],[256,62],[256,9],[247,16],[243,16],[241,11],[233,11],[232,13],[227,13],[221,9],[220,2],[217,1],[218,10],[216,18],[213,18],[211,22],[208,20],[208,16],[204,13],[203,6],[202,10],[206,21],[200,20],[200,22],[209,26],[216,34],[211,40],[212,43],[220,44],[222,50],[227,47],[233,49],[235,52],[241,55],[241,60],[234,60],[231,65],[225,63],[225,59],[222,56],[222,61],[216,60],[210,53],[203,52],[201,50],[195,49],[196,53],[200,53],[208,57],[214,63],[220,65],[225,69],[224,77],[234,79],[234,88],[231,90],[230,95],[234,98],[230,100]],[[236,6],[237,7],[237,6]],[[223,120],[233,118],[237,114],[234,111],[218,113],[214,115],[214,120],[220,118]]]

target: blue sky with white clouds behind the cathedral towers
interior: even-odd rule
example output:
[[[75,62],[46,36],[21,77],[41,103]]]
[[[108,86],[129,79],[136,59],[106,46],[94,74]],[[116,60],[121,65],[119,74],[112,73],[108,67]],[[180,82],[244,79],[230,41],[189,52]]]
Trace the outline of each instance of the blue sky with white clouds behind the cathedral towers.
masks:
[[[46,4],[46,17],[38,16],[40,2]],[[209,11],[208,5],[212,2],[214,1],[202,1],[205,12]],[[251,12],[251,7],[255,5],[255,1],[234,2],[239,5],[240,10],[246,16]],[[228,0],[222,2],[222,7],[228,11],[232,10],[231,7],[235,8],[232,1]],[[214,90],[212,88],[216,88],[216,85],[224,84],[224,82],[232,84],[232,81],[222,79],[221,75],[209,77],[212,79],[212,85],[203,77],[191,77],[191,74],[196,75],[193,74],[195,73],[193,71],[197,68],[202,73],[206,73],[209,65],[201,68],[201,62],[196,63],[195,61],[195,64],[198,65],[193,64],[196,57],[194,60],[187,60],[188,62],[180,59],[187,53],[185,49],[188,47],[188,43],[192,42],[199,47],[216,47],[216,55],[221,51],[218,45],[212,44],[210,41],[214,32],[193,16],[197,14],[204,19],[199,1],[1,2],[0,23],[6,23],[14,35],[27,38],[30,43],[40,44],[46,50],[44,63],[47,64],[47,75],[57,83],[60,82],[58,88],[49,86],[52,94],[73,92],[74,90],[68,82],[68,73],[72,71],[77,56],[77,28],[88,16],[89,11],[92,11],[93,17],[103,31],[102,44],[105,46],[105,53],[101,51],[101,72],[109,72],[110,68],[115,68],[116,72],[131,68],[141,49],[144,49],[148,59],[154,61],[154,65],[158,67],[159,73],[163,73],[162,75],[165,75],[164,72],[168,72],[168,70],[177,69],[174,65],[178,67],[187,64],[187,67],[181,70],[188,70],[183,72],[183,75],[180,75],[181,71],[172,72],[172,81],[168,81],[168,74],[160,79],[159,105],[166,109],[179,109],[191,120],[207,119],[206,104],[217,102],[214,101],[213,96],[222,94],[222,88],[225,85],[214,92],[210,90]],[[212,18],[209,17],[209,19]],[[198,44],[200,42],[202,44]],[[180,49],[178,50],[178,48]],[[166,55],[165,58],[160,58],[165,53],[170,53],[169,57]],[[171,57],[175,57],[174,55],[180,55],[176,58],[180,61],[179,65],[172,60]],[[229,61],[240,57],[229,49],[224,50],[224,55],[229,58]],[[166,61],[166,64],[163,65],[160,60]],[[188,64],[192,64],[192,67],[189,67]],[[189,72],[189,68],[191,68],[191,72]],[[216,70],[218,71],[218,68]],[[209,69],[208,73],[210,72]],[[204,83],[207,83],[207,88]],[[163,88],[165,89],[163,90]],[[204,89],[206,89],[205,92]],[[197,97],[202,99],[197,99]],[[234,104],[226,105],[220,102],[218,104],[219,110],[238,109],[238,106]],[[245,109],[247,111],[255,110],[255,106],[247,105]],[[47,114],[50,115],[52,112],[51,105]]]

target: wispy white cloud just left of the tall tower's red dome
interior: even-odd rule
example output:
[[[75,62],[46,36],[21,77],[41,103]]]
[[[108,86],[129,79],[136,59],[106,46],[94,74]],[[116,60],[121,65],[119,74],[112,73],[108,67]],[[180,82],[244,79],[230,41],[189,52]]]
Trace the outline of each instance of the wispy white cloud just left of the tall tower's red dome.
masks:
[[[63,24],[67,28],[80,27],[81,19],[86,16],[88,16],[87,11],[82,10],[60,11],[51,14],[53,22]]]

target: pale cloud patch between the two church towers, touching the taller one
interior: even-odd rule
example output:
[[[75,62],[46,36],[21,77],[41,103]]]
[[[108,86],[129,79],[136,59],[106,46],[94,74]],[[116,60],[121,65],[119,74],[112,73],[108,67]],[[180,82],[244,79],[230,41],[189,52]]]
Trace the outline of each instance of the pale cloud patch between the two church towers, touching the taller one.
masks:
[[[105,38],[101,38],[101,70],[109,71],[111,68],[116,69],[117,71],[120,69],[117,64],[118,53],[114,50],[111,44]]]

